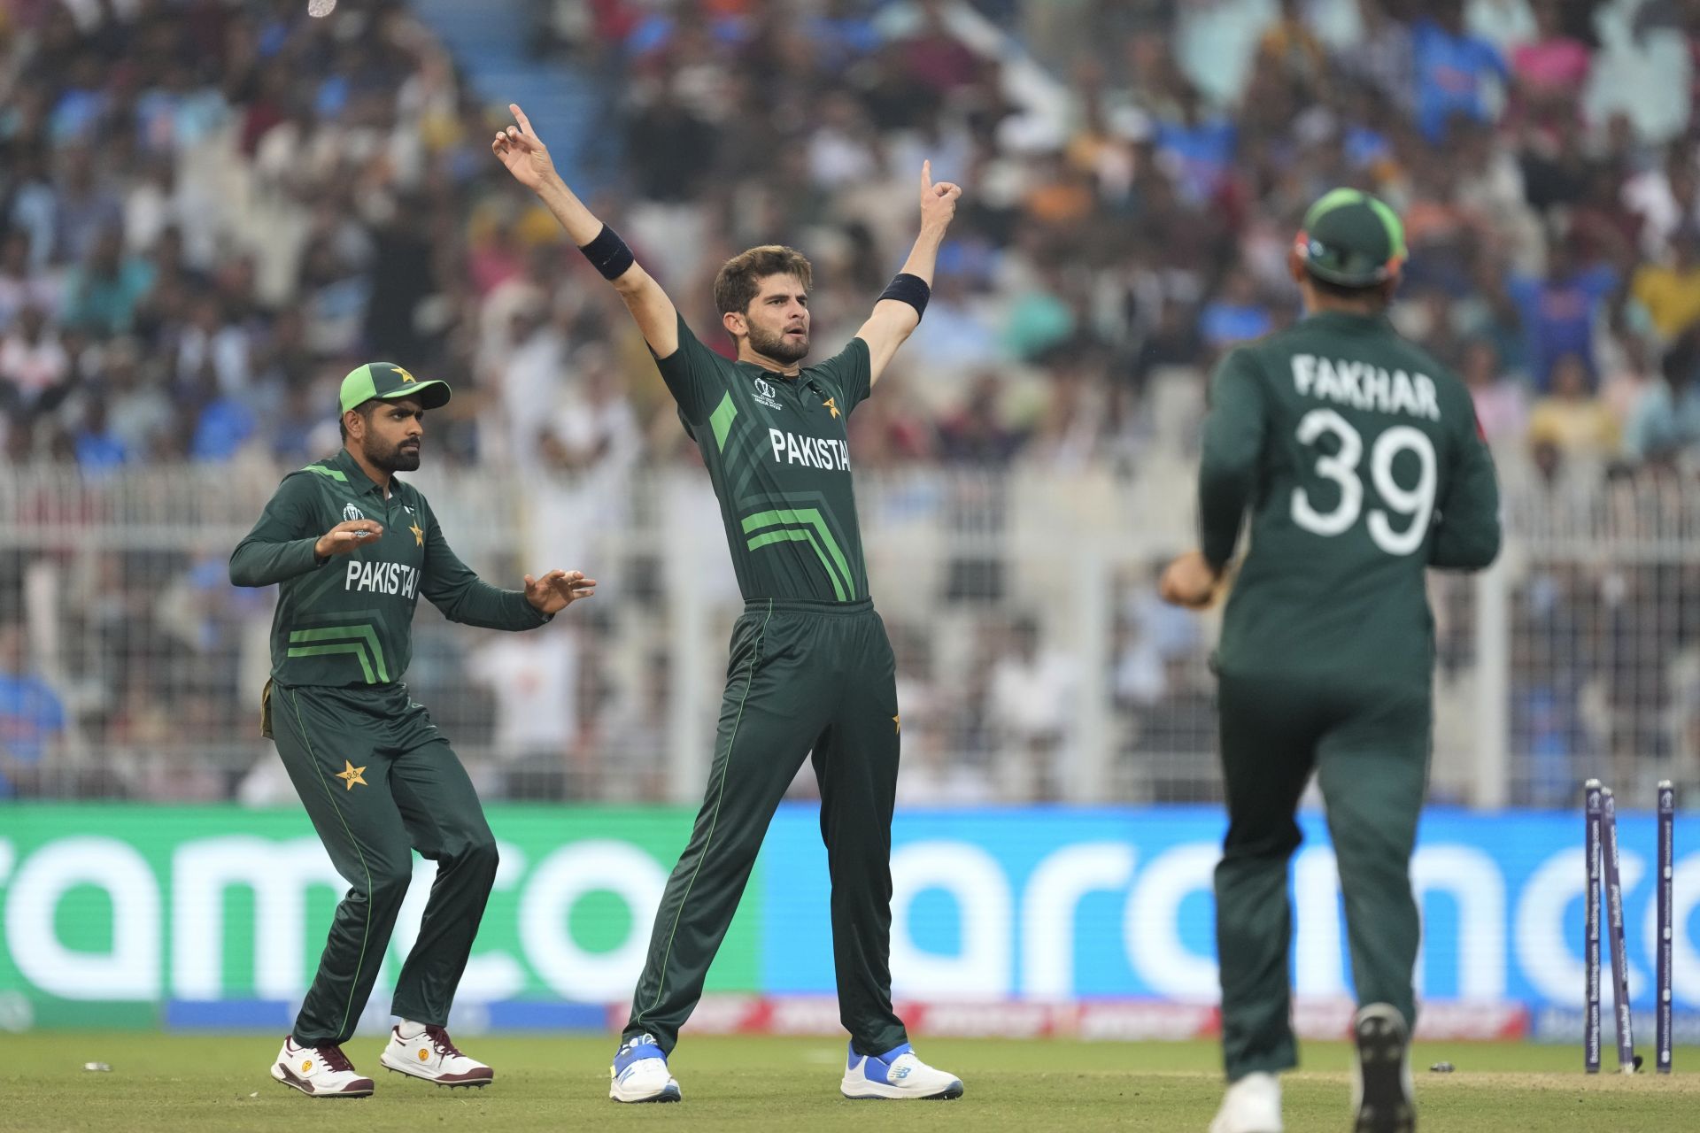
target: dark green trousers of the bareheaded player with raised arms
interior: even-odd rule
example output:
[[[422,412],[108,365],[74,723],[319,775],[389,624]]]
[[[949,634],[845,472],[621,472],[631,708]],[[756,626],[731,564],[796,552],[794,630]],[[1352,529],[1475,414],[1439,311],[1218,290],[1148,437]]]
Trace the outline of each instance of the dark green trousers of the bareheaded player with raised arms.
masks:
[[[908,1041],[891,1011],[896,664],[869,600],[751,601],[733,627],[707,797],[666,882],[624,1036],[673,1050],[750,880],[762,837],[814,753],[831,875],[838,1017],[855,1048]]]

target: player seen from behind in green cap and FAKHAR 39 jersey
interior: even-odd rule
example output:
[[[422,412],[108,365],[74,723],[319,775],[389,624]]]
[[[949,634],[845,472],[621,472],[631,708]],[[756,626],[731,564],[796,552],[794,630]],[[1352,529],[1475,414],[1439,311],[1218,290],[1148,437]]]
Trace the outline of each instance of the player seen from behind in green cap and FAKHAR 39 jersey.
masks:
[[[1202,608],[1250,511],[1216,652],[1227,837],[1216,868],[1222,1051],[1212,1133],[1278,1133],[1289,1023],[1294,814],[1318,775],[1345,895],[1360,1004],[1353,1130],[1416,1123],[1411,848],[1428,775],[1433,618],[1426,567],[1481,569],[1499,550],[1499,493],[1464,384],[1399,338],[1386,307],[1404,234],[1338,189],[1289,253],[1306,318],[1227,355],[1210,380],[1202,549],[1163,598]]]

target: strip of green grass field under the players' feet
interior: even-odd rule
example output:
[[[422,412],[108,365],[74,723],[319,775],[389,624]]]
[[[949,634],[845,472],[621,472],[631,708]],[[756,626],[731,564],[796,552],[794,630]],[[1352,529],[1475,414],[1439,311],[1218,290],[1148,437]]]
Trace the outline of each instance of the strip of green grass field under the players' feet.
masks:
[[[280,1034],[34,1033],[0,1038],[0,1130],[1163,1130],[1202,1133],[1221,1097],[1209,1043],[932,1040],[921,1053],[962,1075],[954,1102],[852,1102],[843,1045],[818,1038],[688,1038],[673,1057],[680,1106],[607,1097],[612,1040],[468,1040],[496,1067],[484,1091],[449,1091],[377,1063],[381,1038],[347,1045],[377,1082],[364,1101],[318,1101],[274,1082]],[[1608,1060],[1612,1058],[1608,1051]],[[1435,1062],[1454,1074],[1430,1074]],[[105,1062],[110,1074],[85,1072]],[[1418,1043],[1425,1133],[1700,1131],[1700,1048],[1678,1072],[1581,1074],[1574,1046]],[[1346,1046],[1311,1043],[1285,1079],[1287,1130],[1346,1130]],[[1686,1068],[1686,1072],[1685,1072]]]

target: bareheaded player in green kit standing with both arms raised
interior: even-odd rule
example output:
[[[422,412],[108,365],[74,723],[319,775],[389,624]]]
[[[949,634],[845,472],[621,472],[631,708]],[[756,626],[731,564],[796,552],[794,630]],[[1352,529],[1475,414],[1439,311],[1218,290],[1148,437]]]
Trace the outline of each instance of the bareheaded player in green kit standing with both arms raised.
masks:
[[[666,1058],[802,761],[821,786],[838,1009],[850,1033],[847,1097],[959,1097],[921,1062],[891,1009],[891,815],[898,783],[896,666],[874,613],[845,421],[920,324],[957,185],[921,168],[921,231],[903,272],[836,355],[809,352],[809,262],[750,248],[714,282],[726,360],[680,318],[614,229],[561,180],[525,114],[491,149],[614,284],[654,353],[719,498],[745,613],[733,629],[707,795],[656,910],[609,1096],[678,1101]]]

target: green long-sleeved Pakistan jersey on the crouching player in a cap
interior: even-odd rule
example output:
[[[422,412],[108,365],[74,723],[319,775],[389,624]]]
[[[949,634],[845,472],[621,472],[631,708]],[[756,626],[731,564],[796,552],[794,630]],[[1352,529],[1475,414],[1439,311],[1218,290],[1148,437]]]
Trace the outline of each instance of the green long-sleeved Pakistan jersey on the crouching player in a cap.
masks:
[[[320,561],[313,545],[345,520],[376,520],[384,535]],[[527,630],[549,620],[522,591],[490,586],[461,562],[418,489],[391,477],[386,499],[347,450],[284,477],[231,552],[230,581],[282,584],[272,679],[291,686],[400,681],[420,595],[468,625]]]

